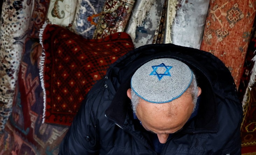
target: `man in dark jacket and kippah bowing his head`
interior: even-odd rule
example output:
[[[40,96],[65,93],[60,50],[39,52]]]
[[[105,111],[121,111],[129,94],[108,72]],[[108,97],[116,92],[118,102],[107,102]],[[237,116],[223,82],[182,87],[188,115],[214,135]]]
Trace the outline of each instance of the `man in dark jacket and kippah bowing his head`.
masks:
[[[208,52],[137,48],[88,92],[59,154],[241,154],[236,93],[229,70]]]

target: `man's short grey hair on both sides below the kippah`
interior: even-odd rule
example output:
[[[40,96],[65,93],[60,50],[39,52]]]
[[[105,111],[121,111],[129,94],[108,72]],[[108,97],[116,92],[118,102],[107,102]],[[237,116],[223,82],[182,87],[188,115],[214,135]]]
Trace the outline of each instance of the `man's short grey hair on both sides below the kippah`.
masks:
[[[194,111],[197,106],[197,95],[198,95],[197,80],[196,80],[194,74],[193,74],[193,78],[190,83],[190,86],[189,86],[189,88],[187,88],[186,92],[190,93],[192,96],[193,104],[194,104],[193,111]],[[131,105],[133,108],[133,112],[135,114],[136,114],[137,105],[138,105],[138,103],[140,103],[140,100],[141,100],[141,98],[134,92],[133,89],[131,89]]]

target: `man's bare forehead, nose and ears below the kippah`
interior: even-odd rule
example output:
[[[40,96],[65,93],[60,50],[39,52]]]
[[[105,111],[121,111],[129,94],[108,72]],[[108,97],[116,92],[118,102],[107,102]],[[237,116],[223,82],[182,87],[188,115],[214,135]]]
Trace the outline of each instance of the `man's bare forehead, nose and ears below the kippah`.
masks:
[[[197,92],[198,97],[201,94],[199,87]],[[132,100],[131,89],[127,90],[127,96]],[[188,89],[182,96],[168,103],[150,103],[138,98],[135,113],[143,127],[157,134],[159,142],[165,143],[170,133],[182,129],[194,107],[194,99]]]

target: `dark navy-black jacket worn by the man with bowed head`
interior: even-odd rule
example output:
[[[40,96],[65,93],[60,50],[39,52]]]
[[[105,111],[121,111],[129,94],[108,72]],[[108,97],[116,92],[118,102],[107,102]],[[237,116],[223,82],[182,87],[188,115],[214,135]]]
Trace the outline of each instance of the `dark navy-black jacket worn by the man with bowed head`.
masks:
[[[106,77],[88,92],[59,154],[156,154],[148,131],[133,119],[126,91],[137,68],[165,57],[190,66],[202,93],[197,116],[171,136],[161,154],[241,154],[242,105],[229,70],[209,52],[173,44],[142,46],[112,64]]]

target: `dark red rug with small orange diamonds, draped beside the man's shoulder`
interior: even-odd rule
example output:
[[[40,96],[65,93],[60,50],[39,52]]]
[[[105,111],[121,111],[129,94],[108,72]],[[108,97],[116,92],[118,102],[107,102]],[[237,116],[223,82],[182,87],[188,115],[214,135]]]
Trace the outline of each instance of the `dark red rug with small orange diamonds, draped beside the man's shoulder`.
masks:
[[[89,40],[57,25],[42,34],[45,50],[42,87],[45,89],[45,122],[70,125],[92,85],[108,66],[134,45],[127,33]],[[43,62],[42,62],[43,63]]]

